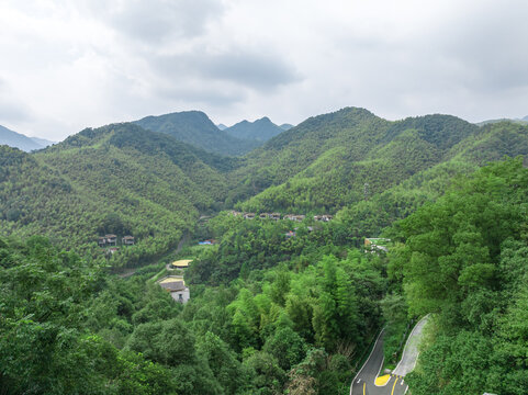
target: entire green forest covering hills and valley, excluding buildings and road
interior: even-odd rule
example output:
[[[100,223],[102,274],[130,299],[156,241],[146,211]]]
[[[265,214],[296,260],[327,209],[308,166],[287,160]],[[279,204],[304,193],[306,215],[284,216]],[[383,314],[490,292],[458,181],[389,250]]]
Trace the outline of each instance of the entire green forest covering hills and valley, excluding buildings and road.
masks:
[[[348,394],[425,314],[413,394],[526,392],[527,126],[344,109],[243,157],[159,132],[0,147],[0,393]],[[156,283],[183,258],[184,305]]]

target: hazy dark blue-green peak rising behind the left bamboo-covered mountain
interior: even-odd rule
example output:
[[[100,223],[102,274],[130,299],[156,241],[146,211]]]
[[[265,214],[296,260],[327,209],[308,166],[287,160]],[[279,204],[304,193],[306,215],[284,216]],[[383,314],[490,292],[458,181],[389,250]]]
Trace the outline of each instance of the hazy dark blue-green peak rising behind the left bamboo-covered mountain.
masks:
[[[241,140],[221,131],[201,111],[147,116],[134,123],[145,129],[165,133],[179,142],[223,155],[243,155],[258,146],[257,142]]]

